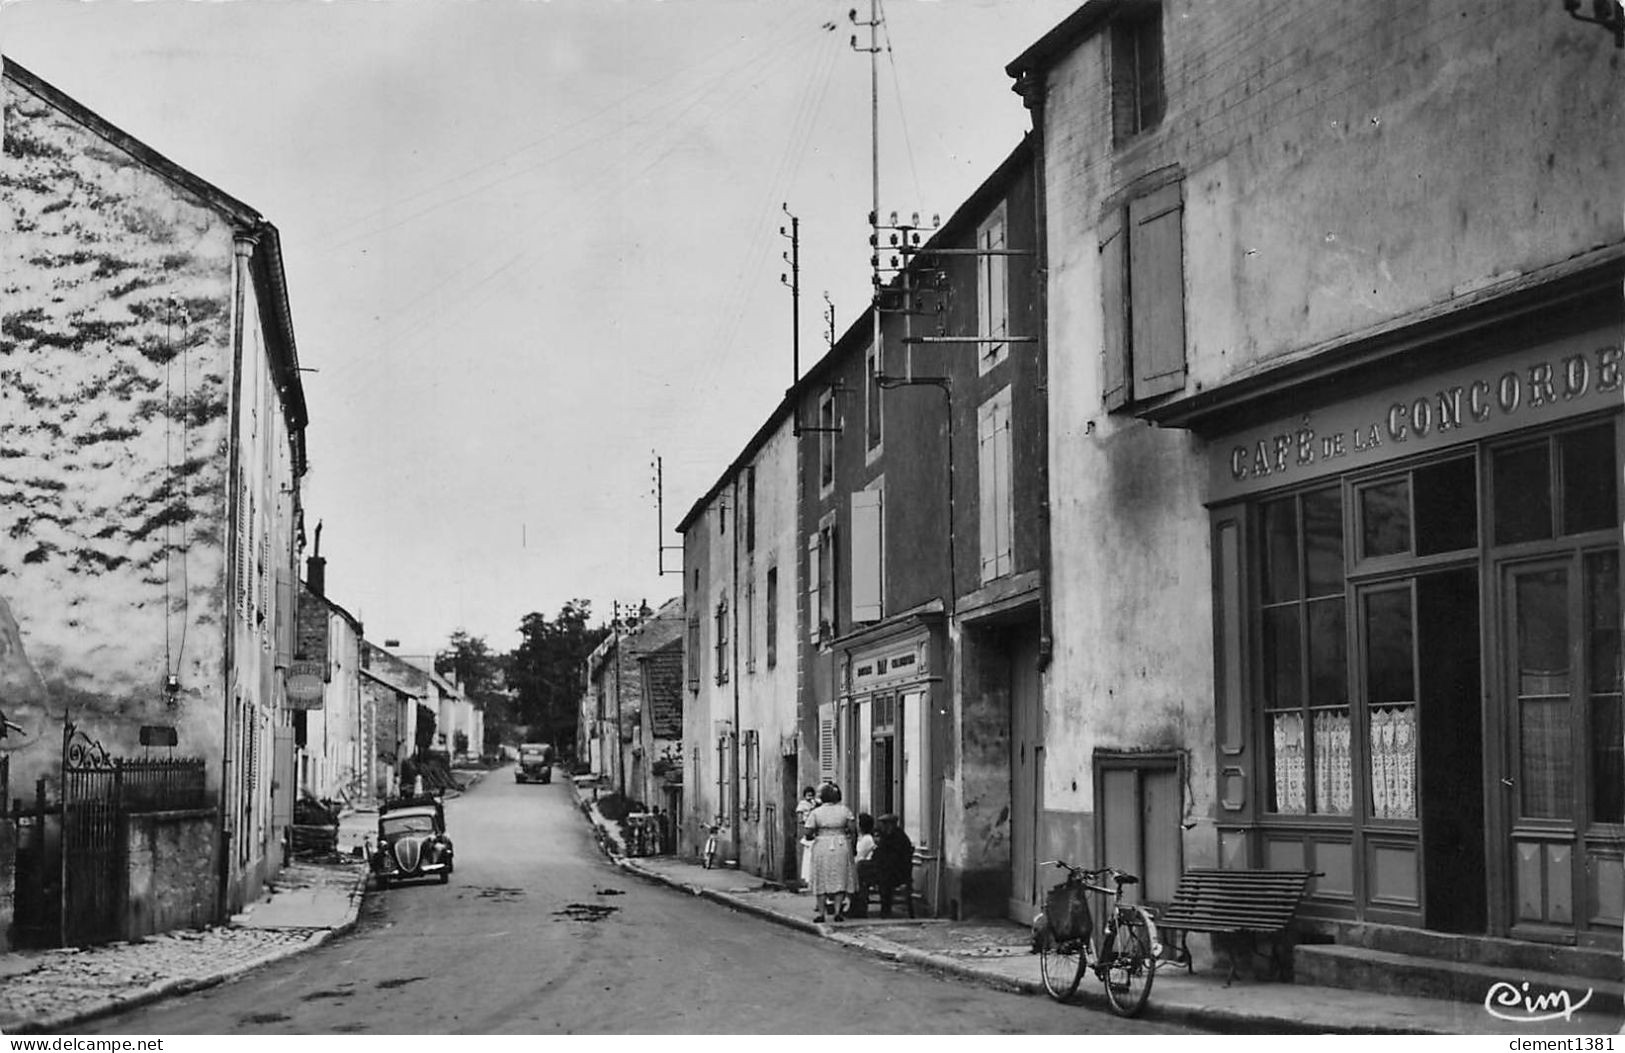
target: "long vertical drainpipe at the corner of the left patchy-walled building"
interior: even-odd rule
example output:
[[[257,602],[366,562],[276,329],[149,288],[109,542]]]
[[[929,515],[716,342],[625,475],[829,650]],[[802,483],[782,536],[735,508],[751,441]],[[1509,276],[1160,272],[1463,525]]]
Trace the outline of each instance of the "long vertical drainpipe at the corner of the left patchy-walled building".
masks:
[[[242,500],[242,486],[239,484],[237,474],[242,470],[242,333],[244,333],[244,312],[247,310],[247,283],[249,283],[249,266],[254,258],[254,247],[258,244],[258,237],[254,234],[239,232],[232,239],[232,294],[231,294],[231,445],[226,463],[226,538],[232,541],[229,552],[237,551],[237,531],[239,525],[239,504]],[[232,559],[228,552],[226,567],[226,603],[229,604],[231,614],[223,619],[226,629],[224,640],[224,720],[221,720],[223,738],[219,751],[219,819],[216,822],[216,842],[219,852],[218,874],[216,881],[219,886],[219,902],[216,904],[216,912],[219,921],[231,916],[231,853],[232,853],[232,824],[229,821],[229,812],[232,811],[234,798],[231,791],[231,780],[234,775],[236,764],[232,764],[232,739],[236,738],[236,681],[237,681],[237,588],[242,575],[242,567],[239,561]]]

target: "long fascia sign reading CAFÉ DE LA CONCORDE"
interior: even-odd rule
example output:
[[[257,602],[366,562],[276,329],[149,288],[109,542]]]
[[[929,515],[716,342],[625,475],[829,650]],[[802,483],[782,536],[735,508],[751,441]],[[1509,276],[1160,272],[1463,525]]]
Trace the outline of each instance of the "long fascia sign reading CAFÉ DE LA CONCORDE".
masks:
[[[1618,406],[1620,344],[1575,338],[1214,444],[1212,500]]]

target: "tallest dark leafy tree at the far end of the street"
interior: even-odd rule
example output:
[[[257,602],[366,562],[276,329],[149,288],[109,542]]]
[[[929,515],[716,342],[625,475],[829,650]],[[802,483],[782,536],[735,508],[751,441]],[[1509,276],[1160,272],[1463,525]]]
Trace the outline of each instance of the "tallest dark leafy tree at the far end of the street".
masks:
[[[509,684],[518,702],[517,722],[556,749],[575,741],[585,687],[582,663],[609,632],[603,626],[588,627],[588,600],[567,601],[552,619],[535,611],[526,614],[518,626],[518,650],[509,663]]]

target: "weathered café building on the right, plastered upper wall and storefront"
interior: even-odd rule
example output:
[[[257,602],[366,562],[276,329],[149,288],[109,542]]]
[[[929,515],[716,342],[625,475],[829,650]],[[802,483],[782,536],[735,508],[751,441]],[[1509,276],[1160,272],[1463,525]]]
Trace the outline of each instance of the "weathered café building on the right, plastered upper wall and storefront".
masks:
[[[1331,931],[1617,947],[1607,34],[1095,0],[1009,73],[1053,348],[1042,837],[1149,902],[1305,868]]]

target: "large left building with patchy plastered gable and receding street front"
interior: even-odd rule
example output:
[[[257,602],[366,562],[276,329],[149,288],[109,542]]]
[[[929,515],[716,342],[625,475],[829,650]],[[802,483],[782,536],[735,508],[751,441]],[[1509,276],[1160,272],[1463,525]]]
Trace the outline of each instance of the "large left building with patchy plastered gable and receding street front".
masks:
[[[306,406],[276,228],[6,63],[0,538],[13,785],[63,725],[202,757],[216,908],[280,866]],[[158,733],[164,734],[162,731]]]

